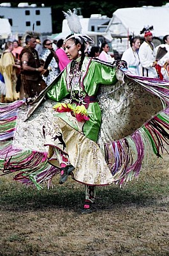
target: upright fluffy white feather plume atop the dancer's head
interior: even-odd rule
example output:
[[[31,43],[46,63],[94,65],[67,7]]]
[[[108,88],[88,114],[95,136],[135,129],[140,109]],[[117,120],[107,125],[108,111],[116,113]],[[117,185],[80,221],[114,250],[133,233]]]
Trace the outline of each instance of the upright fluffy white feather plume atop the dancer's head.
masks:
[[[68,10],[68,12],[63,12],[65,19],[68,20],[68,26],[72,33],[80,34],[82,33],[82,26],[80,24],[80,19],[77,15],[77,10],[73,8],[73,12]]]

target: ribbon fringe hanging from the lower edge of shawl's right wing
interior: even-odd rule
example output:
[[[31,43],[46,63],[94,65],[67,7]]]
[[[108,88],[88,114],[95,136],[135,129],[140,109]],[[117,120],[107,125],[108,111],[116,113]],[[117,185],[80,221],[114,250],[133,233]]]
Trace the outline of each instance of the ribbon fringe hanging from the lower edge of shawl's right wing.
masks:
[[[106,160],[116,184],[123,184],[138,177],[146,147],[147,150],[152,148],[158,157],[161,157],[164,151],[167,152],[165,148],[165,144],[169,145],[167,130],[169,131],[169,108],[155,116],[131,136],[105,144]],[[112,155],[114,156],[113,164],[109,160],[112,159]]]

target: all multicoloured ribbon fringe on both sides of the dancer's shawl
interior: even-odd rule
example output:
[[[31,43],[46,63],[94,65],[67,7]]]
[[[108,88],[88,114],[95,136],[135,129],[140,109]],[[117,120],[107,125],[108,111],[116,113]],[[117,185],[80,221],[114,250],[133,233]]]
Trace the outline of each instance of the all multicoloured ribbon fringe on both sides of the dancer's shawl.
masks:
[[[126,72],[126,76],[140,83],[146,90],[161,98],[164,111],[154,116],[149,122],[135,131],[131,136],[112,143],[105,143],[105,159],[115,179],[115,183],[124,184],[134,177],[138,177],[142,168],[145,152],[148,149],[161,157],[169,144],[169,86],[166,81],[135,77]],[[1,106],[1,175],[19,172],[14,180],[26,185],[34,184],[41,189],[42,182],[48,186],[59,169],[48,164],[47,152],[35,150],[21,150],[13,147],[13,136],[16,130],[18,108],[25,104],[18,100]],[[168,107],[167,107],[168,106]],[[168,152],[167,152],[168,153]],[[146,156],[147,157],[147,156]]]

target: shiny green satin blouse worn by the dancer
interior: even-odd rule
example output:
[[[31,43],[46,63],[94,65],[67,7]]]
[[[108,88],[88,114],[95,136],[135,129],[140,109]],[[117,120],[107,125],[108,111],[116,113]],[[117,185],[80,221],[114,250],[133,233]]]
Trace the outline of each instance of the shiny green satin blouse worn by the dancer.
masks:
[[[68,84],[70,67],[71,63],[69,63],[63,70],[61,76],[58,76],[57,79],[55,79],[54,84],[47,92],[49,99],[59,102],[65,97],[71,97],[70,85]],[[87,95],[96,97],[101,84],[112,84],[113,86],[116,82],[117,77],[115,76],[115,67],[85,57],[81,68],[79,83]],[[65,115],[61,114],[62,113],[59,113],[59,116],[65,120]],[[101,125],[101,110],[98,102],[89,104],[87,114],[90,119],[86,121],[83,126],[84,135],[93,141],[97,141]],[[75,127],[75,129],[77,128]]]

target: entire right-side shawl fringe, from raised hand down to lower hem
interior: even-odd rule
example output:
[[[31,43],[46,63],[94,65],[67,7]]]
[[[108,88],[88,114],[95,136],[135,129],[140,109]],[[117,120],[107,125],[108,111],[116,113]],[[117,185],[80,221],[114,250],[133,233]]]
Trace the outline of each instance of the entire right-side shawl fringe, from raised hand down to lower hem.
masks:
[[[145,151],[152,149],[157,157],[162,157],[169,145],[169,84],[157,78],[133,76],[126,68],[122,68],[130,79],[140,83],[147,91],[161,98],[164,111],[154,116],[131,136],[113,143],[105,143],[105,159],[116,180],[123,184],[138,177],[142,168]],[[168,106],[168,107],[167,107]],[[147,150],[146,150],[147,148]],[[169,153],[168,153],[169,154]],[[112,164],[112,155],[114,163]],[[134,157],[136,160],[134,161]]]

